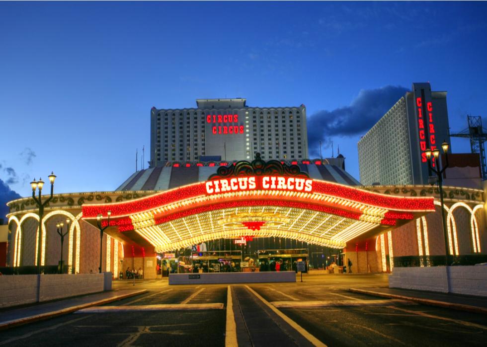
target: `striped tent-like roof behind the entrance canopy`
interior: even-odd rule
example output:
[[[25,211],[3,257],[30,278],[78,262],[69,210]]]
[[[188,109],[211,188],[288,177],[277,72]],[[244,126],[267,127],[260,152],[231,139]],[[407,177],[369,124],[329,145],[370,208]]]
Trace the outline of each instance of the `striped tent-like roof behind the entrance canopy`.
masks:
[[[311,178],[336,182],[348,186],[360,183],[348,172],[336,165],[315,163],[298,164],[301,171],[307,172]],[[210,175],[217,172],[219,163],[214,166],[178,165],[159,166],[134,172],[117,191],[168,190],[195,182],[204,182]]]

